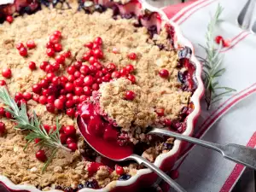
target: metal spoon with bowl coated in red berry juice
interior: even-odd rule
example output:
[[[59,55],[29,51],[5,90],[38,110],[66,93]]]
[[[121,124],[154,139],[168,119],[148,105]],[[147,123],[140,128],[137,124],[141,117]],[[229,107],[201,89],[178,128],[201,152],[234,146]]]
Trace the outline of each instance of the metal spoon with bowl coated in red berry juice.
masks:
[[[165,172],[162,172],[157,166],[154,166],[154,164],[150,163],[148,160],[145,160],[142,156],[133,154],[132,150],[131,150],[131,153],[126,153],[125,155],[119,155],[118,158],[113,158],[113,156],[109,156],[108,143],[104,143],[105,145],[101,147],[97,147],[97,146],[100,146],[100,145],[96,145],[97,142],[100,142],[100,138],[90,140],[90,132],[87,129],[87,125],[84,122],[84,119],[81,118],[80,115],[77,117],[77,125],[81,135],[84,137],[85,142],[88,143],[90,147],[93,148],[98,154],[101,154],[102,156],[114,161],[135,160],[137,161],[138,164],[147,166],[153,172],[158,174],[161,178],[163,178],[166,181],[166,183],[170,184],[170,186],[172,186],[172,188],[175,189],[176,191],[185,192],[185,190],[179,184],[173,181],[170,177],[168,177]],[[113,148],[113,146],[110,149],[114,154],[118,154],[122,152],[119,150],[119,148]]]

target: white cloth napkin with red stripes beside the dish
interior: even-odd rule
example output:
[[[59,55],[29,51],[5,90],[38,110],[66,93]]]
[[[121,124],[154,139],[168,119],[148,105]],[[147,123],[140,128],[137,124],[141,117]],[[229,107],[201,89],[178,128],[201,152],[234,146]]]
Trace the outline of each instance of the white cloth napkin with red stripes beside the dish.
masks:
[[[195,46],[195,55],[205,56],[198,44],[206,44],[207,24],[218,3],[224,7],[216,35],[230,39],[229,48],[222,49],[226,72],[219,84],[236,89],[233,96],[206,110],[202,100],[201,117],[195,137],[214,143],[238,143],[256,146],[256,36],[241,30],[236,18],[247,0],[199,0],[166,7],[166,15],[177,22],[183,35]],[[179,10],[177,12],[177,10]],[[256,13],[253,18],[256,18]],[[227,113],[228,112],[228,113]],[[210,129],[211,128],[211,129]],[[180,183],[189,192],[228,192],[241,176],[244,166],[224,160],[221,154],[199,146],[189,148],[188,154],[177,162]],[[166,189],[164,189],[166,191]]]

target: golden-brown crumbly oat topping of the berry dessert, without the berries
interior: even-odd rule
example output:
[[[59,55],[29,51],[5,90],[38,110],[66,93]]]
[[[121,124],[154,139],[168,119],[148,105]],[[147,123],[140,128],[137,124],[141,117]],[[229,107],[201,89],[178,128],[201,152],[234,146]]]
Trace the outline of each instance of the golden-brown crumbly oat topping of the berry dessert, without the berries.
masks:
[[[105,54],[103,64],[113,62],[121,68],[131,63],[136,68],[137,84],[119,79],[101,87],[103,110],[116,119],[123,129],[130,129],[131,122],[134,122],[135,127],[143,128],[153,124],[157,119],[154,107],[165,107],[167,117],[175,119],[181,108],[188,104],[191,95],[190,92],[178,90],[177,53],[160,50],[156,45],[147,43],[147,29],[132,26],[131,24],[135,22],[133,19],[113,20],[111,10],[102,14],[86,15],[84,12],[77,11],[77,3],[70,5],[73,9],[43,8],[34,15],[15,18],[11,25],[4,22],[0,26],[0,67],[1,69],[10,67],[12,70],[12,78],[5,79],[10,95],[15,96],[17,91],[32,91],[32,85],[44,79],[45,73],[39,69],[39,64],[42,61],[52,60],[45,54],[45,44],[51,32],[60,30],[63,37],[61,40],[63,51],[70,49],[77,60],[81,60],[83,53],[87,50],[87,48],[81,49],[82,45],[101,36]],[[162,32],[160,37],[163,37],[160,39],[166,39],[166,32]],[[28,39],[33,39],[37,48],[28,49],[28,57],[21,57],[15,49],[15,44],[26,42]],[[112,53],[113,47],[119,49],[118,55]],[[137,53],[137,61],[128,60],[127,52]],[[36,61],[37,70],[31,71],[28,68],[29,61]],[[66,66],[72,62],[73,60],[67,59]],[[87,62],[83,64],[89,65]],[[160,79],[158,75],[160,68],[166,68],[171,73],[168,81]],[[61,69],[58,73],[66,72]],[[0,79],[3,77],[0,76]],[[120,99],[127,88],[136,91],[136,102],[129,103]],[[65,113],[54,115],[47,112],[45,106],[32,100],[28,102],[28,107],[30,111],[35,110],[38,113],[38,118],[44,124],[54,125],[56,116],[60,119],[61,125],[74,124],[73,119]],[[44,164],[35,158],[38,147],[30,143],[26,151],[23,151],[26,145],[26,132],[15,131],[15,125],[9,119],[1,120],[6,125],[7,134],[0,137],[0,175],[9,177],[15,184],[29,183],[43,190],[49,190],[49,187],[55,185],[75,188],[90,177],[86,171],[89,161],[83,160],[81,155],[86,150],[81,137],[79,150],[75,153],[59,150],[47,170],[42,173],[41,168]],[[161,153],[160,149],[157,151],[156,154]],[[137,166],[125,166],[125,172],[131,176],[136,174],[136,170]],[[109,175],[106,168],[102,166],[91,177],[96,178],[100,187],[104,187],[111,181],[117,180],[119,176],[115,171]]]

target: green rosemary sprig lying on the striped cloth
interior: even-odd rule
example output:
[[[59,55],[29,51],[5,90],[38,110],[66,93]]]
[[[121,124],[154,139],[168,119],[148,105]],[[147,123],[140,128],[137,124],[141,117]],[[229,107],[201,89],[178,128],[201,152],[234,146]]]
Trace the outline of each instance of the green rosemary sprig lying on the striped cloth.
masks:
[[[214,26],[218,24],[219,16],[223,10],[224,9],[218,4],[217,11],[207,26],[207,45],[203,46],[200,44],[207,53],[206,58],[197,56],[199,61],[203,64],[203,80],[206,88],[205,101],[207,102],[207,110],[210,109],[212,103],[221,100],[222,96],[236,91],[230,87],[224,87],[218,84],[218,78],[225,72],[225,68],[222,67],[224,55],[220,54],[222,43],[219,44],[218,49],[214,46],[213,31]]]

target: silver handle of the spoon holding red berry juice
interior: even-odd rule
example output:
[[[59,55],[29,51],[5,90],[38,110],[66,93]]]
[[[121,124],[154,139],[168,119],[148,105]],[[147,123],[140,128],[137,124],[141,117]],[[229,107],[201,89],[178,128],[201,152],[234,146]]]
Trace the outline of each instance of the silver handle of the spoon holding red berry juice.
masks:
[[[157,166],[154,166],[154,164],[150,163],[148,160],[145,160],[142,156],[139,156],[137,154],[131,154],[129,159],[136,160],[139,164],[142,164],[143,166],[147,166],[153,172],[158,174],[159,177],[164,179],[166,183],[170,184],[170,186],[173,189],[175,189],[177,192],[186,192],[186,190],[183,189],[178,183],[176,183],[174,180],[172,180],[172,178],[167,176],[165,172],[162,172],[160,168],[158,168]]]

